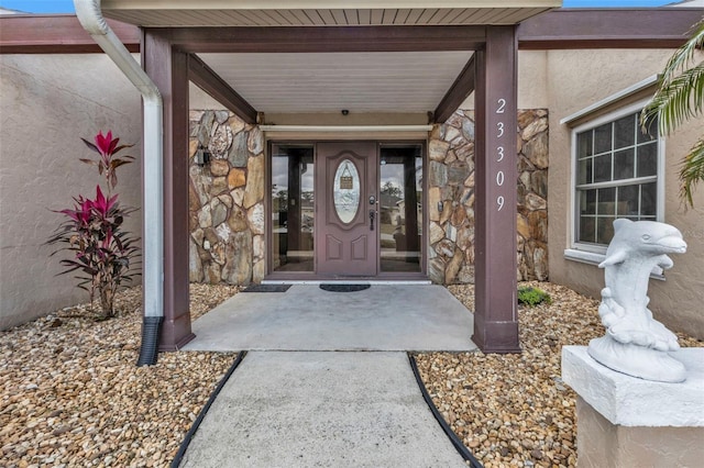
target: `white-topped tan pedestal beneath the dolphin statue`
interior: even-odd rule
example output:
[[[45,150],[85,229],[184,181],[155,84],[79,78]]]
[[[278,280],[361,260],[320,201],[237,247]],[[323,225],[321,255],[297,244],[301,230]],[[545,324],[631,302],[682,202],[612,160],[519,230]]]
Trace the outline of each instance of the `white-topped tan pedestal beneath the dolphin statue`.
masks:
[[[629,377],[585,346],[562,348],[562,379],[579,394],[578,463],[585,467],[700,467],[704,459],[704,348],[670,354],[686,380]]]

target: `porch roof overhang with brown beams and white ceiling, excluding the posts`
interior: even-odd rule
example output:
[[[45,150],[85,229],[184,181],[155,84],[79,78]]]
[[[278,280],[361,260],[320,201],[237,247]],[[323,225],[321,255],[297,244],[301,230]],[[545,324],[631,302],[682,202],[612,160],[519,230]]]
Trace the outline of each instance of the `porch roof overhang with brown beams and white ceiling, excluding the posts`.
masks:
[[[431,3],[103,0],[102,11],[167,29],[190,54],[191,81],[250,123],[348,110],[422,124],[448,119],[473,90],[473,52],[484,46],[486,25],[513,26],[562,2]]]

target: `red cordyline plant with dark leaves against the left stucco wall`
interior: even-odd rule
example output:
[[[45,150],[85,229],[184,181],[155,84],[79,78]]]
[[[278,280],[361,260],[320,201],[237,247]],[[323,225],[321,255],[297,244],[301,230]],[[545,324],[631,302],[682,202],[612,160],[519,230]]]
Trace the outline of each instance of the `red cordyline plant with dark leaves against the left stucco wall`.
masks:
[[[100,296],[103,316],[114,316],[114,294],[122,281],[130,281],[133,259],[139,256],[136,238],[122,229],[124,218],[134,210],[122,208],[118,194],[112,190],[118,185],[116,169],[132,163],[134,157],[116,154],[133,145],[118,145],[120,138],[112,138],[112,132],[98,133],[95,144],[81,138],[86,146],[98,153],[98,160],[80,158],[97,166],[98,174],[106,179],[107,194],[100,185],[96,186],[96,198],[74,197],[74,208],[55,211],[66,216],[47,244],[62,247],[52,254],[67,250],[70,258],[62,259],[66,269],[59,275],[77,271],[78,287],[90,294],[92,304],[96,292]]]

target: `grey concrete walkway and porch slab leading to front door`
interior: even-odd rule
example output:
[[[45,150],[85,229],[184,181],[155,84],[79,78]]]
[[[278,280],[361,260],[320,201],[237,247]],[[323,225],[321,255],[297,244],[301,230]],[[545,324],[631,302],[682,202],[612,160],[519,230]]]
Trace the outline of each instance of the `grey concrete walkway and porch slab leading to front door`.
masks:
[[[260,350],[224,385],[180,467],[468,466],[405,353],[476,349],[472,314],[442,287],[240,293],[194,332],[186,349]]]

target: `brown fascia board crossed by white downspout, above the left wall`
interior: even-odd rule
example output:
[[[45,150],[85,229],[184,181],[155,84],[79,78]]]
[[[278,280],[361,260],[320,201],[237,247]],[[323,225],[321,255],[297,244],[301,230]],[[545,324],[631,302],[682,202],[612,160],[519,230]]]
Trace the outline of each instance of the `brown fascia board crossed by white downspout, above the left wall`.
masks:
[[[108,20],[128,51],[140,52],[140,29]],[[102,53],[75,14],[0,15],[0,54]]]

